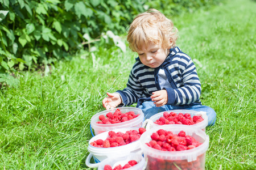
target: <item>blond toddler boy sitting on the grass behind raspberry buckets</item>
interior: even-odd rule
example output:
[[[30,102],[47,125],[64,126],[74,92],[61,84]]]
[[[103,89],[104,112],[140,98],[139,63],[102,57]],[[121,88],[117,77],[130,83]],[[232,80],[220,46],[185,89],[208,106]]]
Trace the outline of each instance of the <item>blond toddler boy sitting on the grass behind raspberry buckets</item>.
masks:
[[[208,126],[216,112],[201,104],[201,83],[192,59],[176,46],[177,29],[161,12],[150,9],[135,17],[127,41],[138,53],[127,87],[107,93],[106,109],[137,103],[145,118],[173,109],[204,111]]]

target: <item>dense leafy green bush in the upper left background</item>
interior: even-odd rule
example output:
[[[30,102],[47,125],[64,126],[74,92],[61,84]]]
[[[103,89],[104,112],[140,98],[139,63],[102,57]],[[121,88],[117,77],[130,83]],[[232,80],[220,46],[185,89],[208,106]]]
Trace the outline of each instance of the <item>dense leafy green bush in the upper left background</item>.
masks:
[[[51,63],[102,32],[125,32],[141,1],[0,0],[0,73]]]

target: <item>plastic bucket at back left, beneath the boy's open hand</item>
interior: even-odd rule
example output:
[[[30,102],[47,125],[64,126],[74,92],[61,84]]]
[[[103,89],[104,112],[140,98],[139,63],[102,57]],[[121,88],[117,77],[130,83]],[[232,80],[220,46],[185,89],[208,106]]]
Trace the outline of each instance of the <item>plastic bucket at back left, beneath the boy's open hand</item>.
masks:
[[[114,113],[116,109],[119,109],[122,113],[127,113],[133,111],[134,114],[140,114],[138,117],[133,118],[132,120],[117,123],[117,124],[96,124],[99,121],[98,116],[103,114],[106,116],[107,113],[112,112]],[[120,129],[120,128],[141,128],[144,121],[144,113],[139,108],[134,107],[121,107],[121,108],[113,108],[106,111],[99,112],[92,116],[90,121],[90,126],[92,126],[95,135],[100,134],[104,131],[109,131],[113,129]],[[93,135],[93,132],[92,132]]]

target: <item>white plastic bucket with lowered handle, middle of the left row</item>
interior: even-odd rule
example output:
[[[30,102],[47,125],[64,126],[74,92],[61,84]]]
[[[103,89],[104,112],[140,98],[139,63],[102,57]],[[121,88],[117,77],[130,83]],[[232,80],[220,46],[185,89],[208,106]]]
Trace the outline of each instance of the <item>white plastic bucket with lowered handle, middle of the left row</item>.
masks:
[[[114,129],[115,133],[118,131],[121,131],[122,133],[125,133],[129,130],[137,130],[139,131],[139,128],[122,128],[122,129]],[[107,158],[113,158],[113,157],[122,157],[129,155],[130,153],[142,153],[141,151],[141,145],[138,141],[131,142],[127,145],[118,146],[118,147],[108,147],[108,148],[102,148],[102,147],[94,147],[90,145],[91,142],[96,141],[97,139],[105,140],[108,137],[109,131],[105,131],[104,133],[100,133],[93,138],[90,139],[89,145],[88,145],[88,151],[90,154],[86,158],[86,165],[90,168],[98,167],[99,163],[102,162],[102,160],[105,160]],[[94,164],[90,163],[90,159],[93,157]]]

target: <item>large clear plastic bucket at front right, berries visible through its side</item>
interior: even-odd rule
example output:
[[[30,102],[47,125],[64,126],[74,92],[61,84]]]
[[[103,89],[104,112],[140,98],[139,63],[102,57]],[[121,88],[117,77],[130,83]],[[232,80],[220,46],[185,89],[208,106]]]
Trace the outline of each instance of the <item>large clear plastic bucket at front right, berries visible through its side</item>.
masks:
[[[196,141],[202,143],[196,148],[184,151],[161,151],[149,147],[146,143],[151,141],[151,134],[159,129],[172,131],[178,134],[181,130],[191,135]],[[144,158],[147,163],[146,169],[205,169],[205,154],[209,147],[209,136],[199,128],[191,128],[187,125],[162,125],[147,130],[139,139]]]

